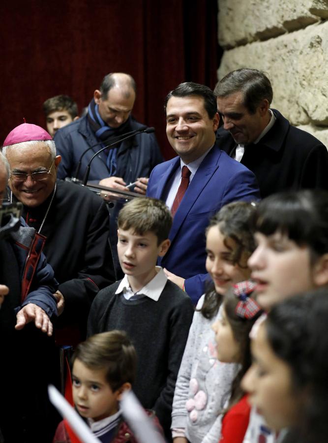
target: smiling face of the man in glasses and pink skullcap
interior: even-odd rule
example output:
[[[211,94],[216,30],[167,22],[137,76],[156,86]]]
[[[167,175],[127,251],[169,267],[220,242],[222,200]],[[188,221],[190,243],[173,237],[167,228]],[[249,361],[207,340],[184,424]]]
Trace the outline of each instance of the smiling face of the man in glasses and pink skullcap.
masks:
[[[31,174],[32,172],[47,171],[53,160],[50,149],[40,141],[35,146],[22,146],[9,148],[6,151],[10,172],[21,172]],[[42,181],[34,181],[29,175],[25,182],[16,182],[9,179],[9,187],[15,197],[28,207],[36,207],[42,204],[52,193],[57,178],[57,167],[60,163],[60,156],[55,158],[55,162]]]

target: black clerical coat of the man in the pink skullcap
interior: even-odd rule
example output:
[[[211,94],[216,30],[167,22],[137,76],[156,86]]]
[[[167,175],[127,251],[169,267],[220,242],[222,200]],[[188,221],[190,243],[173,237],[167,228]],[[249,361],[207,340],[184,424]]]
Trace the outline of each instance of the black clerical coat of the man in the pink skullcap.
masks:
[[[23,207],[23,217],[30,226],[40,228],[51,198],[52,194],[36,208]],[[65,299],[58,325],[78,322],[83,331],[93,298],[99,289],[116,280],[106,204],[82,186],[57,180],[41,234],[46,237],[44,253]]]

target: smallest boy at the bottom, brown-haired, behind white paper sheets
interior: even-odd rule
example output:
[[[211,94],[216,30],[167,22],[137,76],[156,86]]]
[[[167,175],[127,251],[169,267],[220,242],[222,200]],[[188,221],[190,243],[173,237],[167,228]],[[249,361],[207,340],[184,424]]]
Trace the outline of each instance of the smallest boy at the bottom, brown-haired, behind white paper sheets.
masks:
[[[75,408],[103,443],[137,443],[119,411],[121,394],[131,389],[136,372],[136,351],[125,332],[97,334],[80,343],[72,358]],[[70,443],[64,421],[54,443]]]

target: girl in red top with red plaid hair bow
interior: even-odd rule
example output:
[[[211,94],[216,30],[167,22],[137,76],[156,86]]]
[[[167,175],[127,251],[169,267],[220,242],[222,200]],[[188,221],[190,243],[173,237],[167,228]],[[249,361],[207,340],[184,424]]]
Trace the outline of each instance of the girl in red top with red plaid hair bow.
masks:
[[[251,365],[250,330],[263,313],[257,302],[249,296],[253,288],[252,282],[242,282],[228,291],[224,297],[222,317],[212,325],[218,360],[240,365],[222,419],[219,440],[222,443],[242,443],[248,426],[250,406],[240,381]]]

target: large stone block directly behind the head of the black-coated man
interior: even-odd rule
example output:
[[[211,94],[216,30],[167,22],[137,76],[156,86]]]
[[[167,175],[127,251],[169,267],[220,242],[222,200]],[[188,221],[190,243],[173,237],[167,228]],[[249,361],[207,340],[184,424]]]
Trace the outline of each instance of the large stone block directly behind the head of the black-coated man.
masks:
[[[272,107],[293,125],[328,126],[328,22],[225,51],[218,78],[242,68],[268,73]]]

